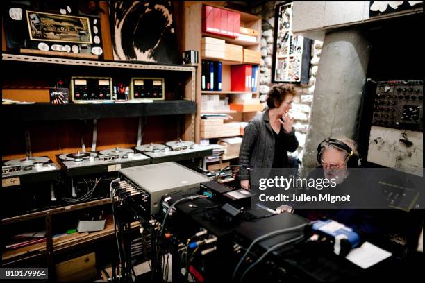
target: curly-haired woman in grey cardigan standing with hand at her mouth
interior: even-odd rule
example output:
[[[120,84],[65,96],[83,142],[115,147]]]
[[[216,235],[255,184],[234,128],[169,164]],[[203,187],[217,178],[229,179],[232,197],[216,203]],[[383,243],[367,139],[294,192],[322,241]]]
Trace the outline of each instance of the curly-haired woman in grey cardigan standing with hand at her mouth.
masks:
[[[288,165],[288,151],[298,147],[295,137],[294,119],[290,118],[294,86],[280,83],[274,85],[267,95],[267,109],[258,114],[245,128],[240,146],[240,185],[249,189],[249,171],[253,168],[285,168]]]

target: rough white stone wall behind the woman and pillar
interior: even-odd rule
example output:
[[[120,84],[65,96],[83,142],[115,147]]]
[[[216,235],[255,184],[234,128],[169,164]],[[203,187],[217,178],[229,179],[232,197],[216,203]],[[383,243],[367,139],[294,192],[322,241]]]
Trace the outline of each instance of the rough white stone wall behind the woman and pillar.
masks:
[[[273,62],[273,42],[274,42],[274,21],[275,7],[281,1],[265,2],[259,6],[253,7],[252,13],[260,15],[263,19],[263,35],[261,37],[261,64],[260,64],[260,99],[265,100],[269,85],[272,83],[272,62]],[[310,60],[310,78],[308,84],[297,84],[296,89],[300,94],[294,98],[292,103],[291,115],[295,119],[295,135],[299,141],[299,148],[293,154],[299,160],[303,160],[303,148],[306,141],[310,110],[313,103],[313,93],[315,90],[315,81],[319,65],[320,53],[322,52],[322,42],[315,40],[312,44]]]

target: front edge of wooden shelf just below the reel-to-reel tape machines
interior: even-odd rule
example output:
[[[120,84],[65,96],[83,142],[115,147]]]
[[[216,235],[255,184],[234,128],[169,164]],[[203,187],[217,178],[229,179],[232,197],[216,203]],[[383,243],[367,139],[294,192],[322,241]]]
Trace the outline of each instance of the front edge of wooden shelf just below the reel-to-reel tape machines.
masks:
[[[30,213],[30,214],[24,214],[24,215],[19,215],[19,216],[15,216],[15,217],[4,218],[4,219],[1,220],[1,224],[5,225],[5,224],[10,224],[10,223],[16,223],[16,222],[26,221],[26,220],[30,220],[30,219],[34,219],[34,218],[40,218],[40,217],[44,217],[44,216],[60,214],[60,213],[63,213],[63,212],[71,212],[71,211],[74,211],[74,210],[84,209],[84,208],[87,208],[87,207],[95,207],[95,206],[99,206],[99,205],[106,205],[108,203],[110,203],[110,198],[102,198],[100,200],[92,200],[92,201],[88,201],[86,203],[78,203],[76,205],[64,205],[63,207],[56,207],[56,208],[52,208],[52,209],[42,210],[41,212],[33,212],[33,213]]]

